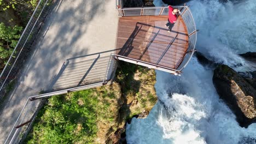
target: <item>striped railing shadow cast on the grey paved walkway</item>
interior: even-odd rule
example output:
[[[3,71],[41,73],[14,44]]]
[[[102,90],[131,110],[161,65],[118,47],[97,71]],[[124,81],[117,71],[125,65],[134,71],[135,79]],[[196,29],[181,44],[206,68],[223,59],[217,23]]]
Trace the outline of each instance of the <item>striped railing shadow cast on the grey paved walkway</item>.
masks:
[[[109,81],[114,68],[112,55],[104,53],[115,52],[114,49],[85,56],[77,56],[66,59],[48,89],[57,91],[65,88],[79,87],[92,83]],[[101,56],[104,55],[104,56]]]

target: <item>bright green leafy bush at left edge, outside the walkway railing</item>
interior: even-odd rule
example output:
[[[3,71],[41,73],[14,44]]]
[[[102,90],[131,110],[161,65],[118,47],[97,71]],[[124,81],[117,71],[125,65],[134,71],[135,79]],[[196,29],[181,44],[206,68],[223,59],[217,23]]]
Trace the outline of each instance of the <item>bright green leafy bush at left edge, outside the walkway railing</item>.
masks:
[[[3,22],[0,23],[0,58],[5,62],[17,45],[21,30],[22,27],[10,27],[5,26]]]

